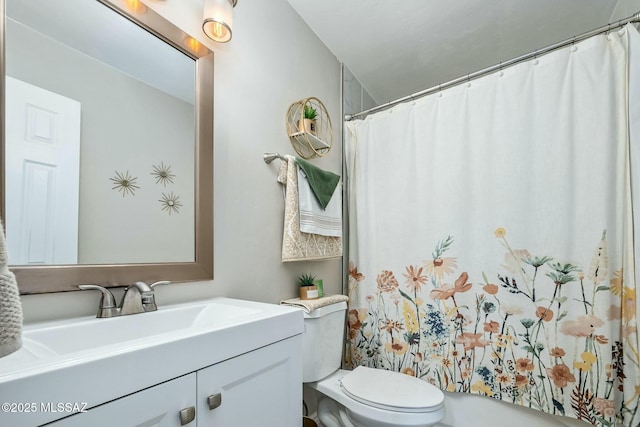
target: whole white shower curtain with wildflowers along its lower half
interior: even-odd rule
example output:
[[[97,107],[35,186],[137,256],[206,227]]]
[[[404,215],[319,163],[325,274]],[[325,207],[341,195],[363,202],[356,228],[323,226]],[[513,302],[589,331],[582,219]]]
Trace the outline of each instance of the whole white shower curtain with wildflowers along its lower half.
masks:
[[[640,423],[639,38],[345,123],[349,364]]]

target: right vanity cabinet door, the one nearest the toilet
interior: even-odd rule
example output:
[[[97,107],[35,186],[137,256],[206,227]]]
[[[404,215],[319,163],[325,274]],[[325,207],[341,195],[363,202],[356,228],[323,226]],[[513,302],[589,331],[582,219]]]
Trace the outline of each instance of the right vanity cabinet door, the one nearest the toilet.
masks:
[[[198,427],[299,427],[302,422],[301,335],[197,374]]]

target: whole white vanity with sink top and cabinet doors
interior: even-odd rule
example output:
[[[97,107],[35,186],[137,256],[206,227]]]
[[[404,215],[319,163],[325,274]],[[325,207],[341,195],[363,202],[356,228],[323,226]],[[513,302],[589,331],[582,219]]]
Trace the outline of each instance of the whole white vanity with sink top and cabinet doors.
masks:
[[[299,426],[302,311],[228,298],[25,327],[0,426]]]

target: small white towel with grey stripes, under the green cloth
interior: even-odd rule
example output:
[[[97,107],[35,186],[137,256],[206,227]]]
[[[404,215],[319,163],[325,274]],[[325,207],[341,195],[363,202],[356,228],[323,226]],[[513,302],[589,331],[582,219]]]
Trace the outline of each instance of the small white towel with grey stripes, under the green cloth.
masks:
[[[342,192],[336,186],[326,209],[322,209],[307,181],[304,171],[298,166],[298,206],[300,209],[300,231],[321,236],[342,237]]]

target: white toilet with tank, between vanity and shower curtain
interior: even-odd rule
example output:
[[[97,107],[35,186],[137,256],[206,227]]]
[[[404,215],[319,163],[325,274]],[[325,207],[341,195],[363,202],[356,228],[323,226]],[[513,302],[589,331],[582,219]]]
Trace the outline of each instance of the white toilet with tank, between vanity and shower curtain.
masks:
[[[304,314],[302,380],[322,394],[323,427],[422,427],[442,420],[444,394],[437,387],[382,369],[340,369],[346,310],[340,302]]]

